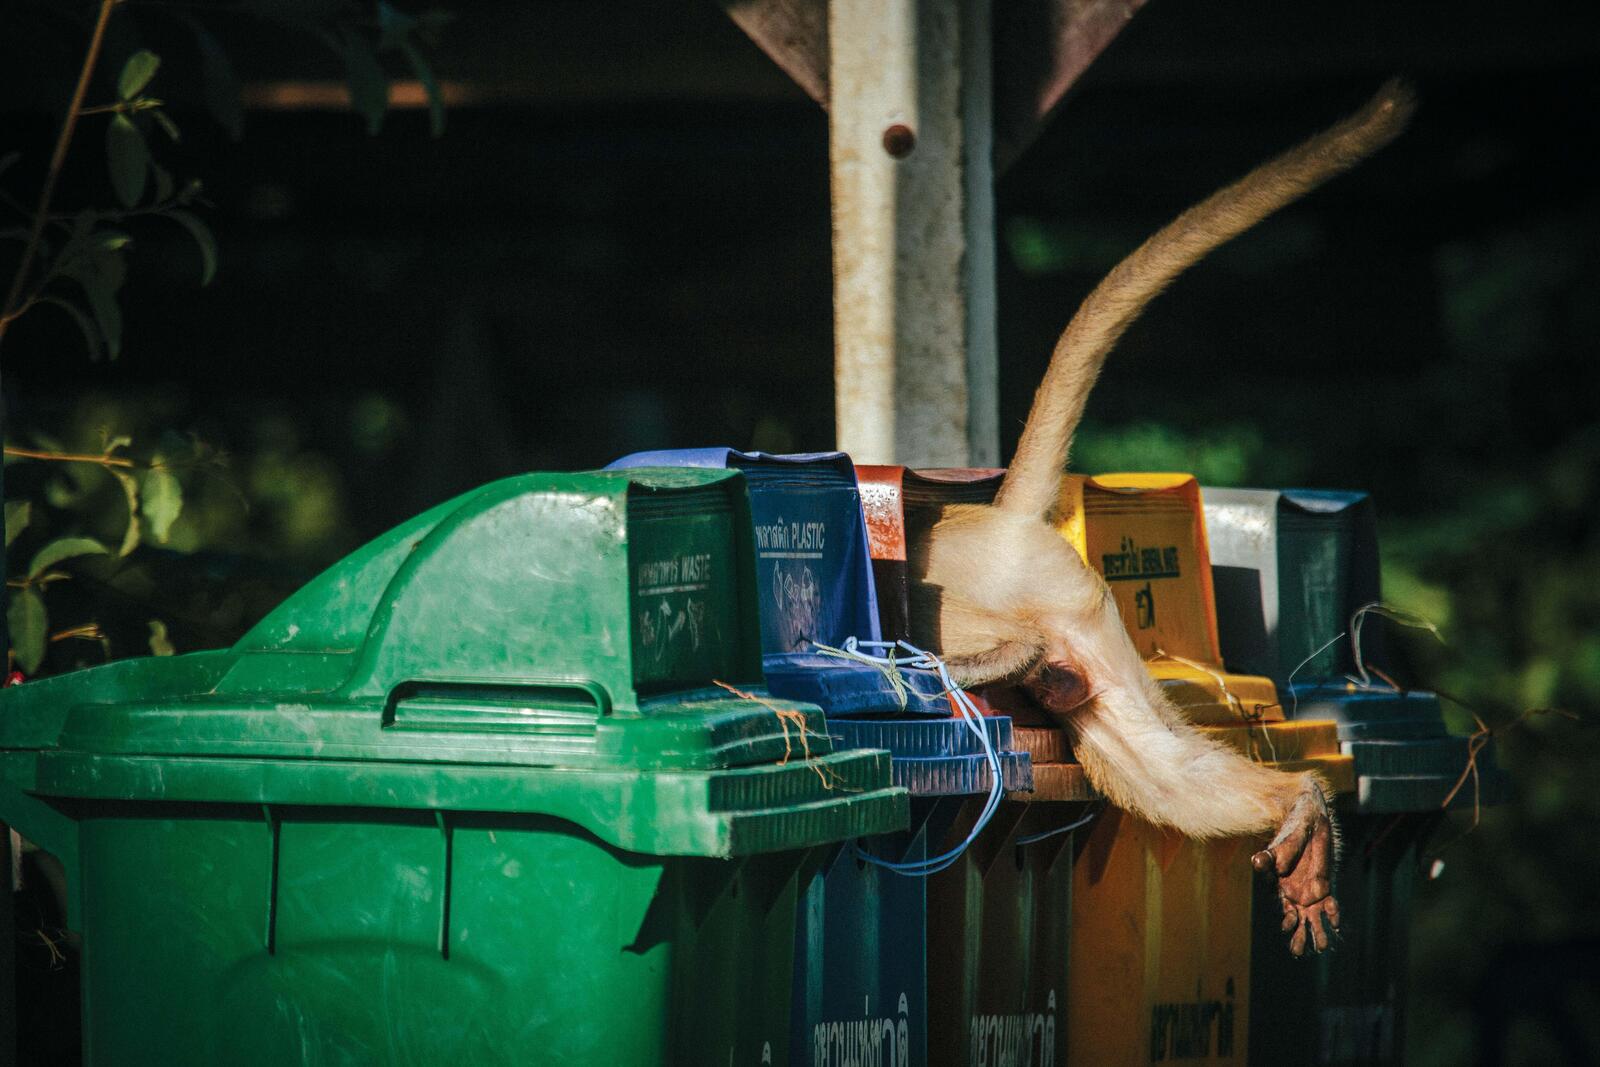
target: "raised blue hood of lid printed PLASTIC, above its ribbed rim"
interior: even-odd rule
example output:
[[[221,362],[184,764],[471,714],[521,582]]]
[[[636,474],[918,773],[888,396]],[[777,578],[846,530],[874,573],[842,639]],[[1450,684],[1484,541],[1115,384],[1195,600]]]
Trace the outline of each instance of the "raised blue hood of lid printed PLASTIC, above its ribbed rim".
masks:
[[[608,469],[718,467],[744,474],[757,557],[766,685],[829,715],[950,713],[926,670],[883,670],[818,653],[850,637],[878,640],[877,587],[856,472],[843,453],[773,456],[733,448],[634,453]]]

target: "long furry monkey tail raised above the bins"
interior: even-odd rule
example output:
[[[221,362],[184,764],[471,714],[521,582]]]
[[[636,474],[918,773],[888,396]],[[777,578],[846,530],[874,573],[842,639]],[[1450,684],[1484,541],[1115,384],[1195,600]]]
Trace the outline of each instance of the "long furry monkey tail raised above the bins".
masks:
[[[995,504],[1048,517],[1094,379],[1144,306],[1218,245],[1394,141],[1413,110],[1411,90],[1387,82],[1362,110],[1211,194],[1117,264],[1056,342]]]

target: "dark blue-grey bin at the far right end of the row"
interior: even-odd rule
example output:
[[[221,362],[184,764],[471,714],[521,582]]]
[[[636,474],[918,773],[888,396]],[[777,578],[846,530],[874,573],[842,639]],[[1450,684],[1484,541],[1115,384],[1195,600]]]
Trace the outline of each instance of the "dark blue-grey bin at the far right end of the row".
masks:
[[[1366,681],[1347,637],[1323,648],[1347,632],[1357,608],[1379,600],[1365,493],[1202,494],[1224,661],[1277,681],[1285,715],[1336,721],[1357,776],[1355,795],[1339,800],[1334,893],[1344,936],[1334,952],[1293,960],[1275,891],[1256,885],[1250,1062],[1402,1064],[1405,947],[1422,845],[1446,808],[1498,803],[1504,776],[1490,745],[1474,758],[1467,737],[1446,733],[1437,694]],[[1362,630],[1366,662],[1382,662],[1379,629]]]

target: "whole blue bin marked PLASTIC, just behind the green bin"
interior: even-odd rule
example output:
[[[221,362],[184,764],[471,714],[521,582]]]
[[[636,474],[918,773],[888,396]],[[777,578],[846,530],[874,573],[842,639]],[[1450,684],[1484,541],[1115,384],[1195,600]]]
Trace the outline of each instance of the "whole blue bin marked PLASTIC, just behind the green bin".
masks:
[[[926,1064],[928,880],[915,869],[952,845],[952,827],[994,784],[1032,789],[1011,720],[982,737],[952,717],[931,670],[886,673],[819,654],[878,640],[878,605],[856,472],[843,453],[770,456],[696,448],[626,456],[613,467],[702,466],[744,472],[755,525],[762,651],[774,696],[819,704],[837,749],[883,749],[912,793],[910,829],[813,853],[800,872],[789,1062]]]

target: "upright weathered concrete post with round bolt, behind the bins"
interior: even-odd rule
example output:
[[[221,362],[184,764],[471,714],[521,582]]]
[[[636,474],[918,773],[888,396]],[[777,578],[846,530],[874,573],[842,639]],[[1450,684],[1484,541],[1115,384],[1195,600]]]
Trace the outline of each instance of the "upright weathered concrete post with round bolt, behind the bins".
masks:
[[[990,0],[830,0],[834,381],[859,462],[1000,462]]]

